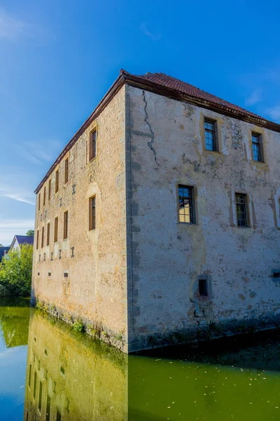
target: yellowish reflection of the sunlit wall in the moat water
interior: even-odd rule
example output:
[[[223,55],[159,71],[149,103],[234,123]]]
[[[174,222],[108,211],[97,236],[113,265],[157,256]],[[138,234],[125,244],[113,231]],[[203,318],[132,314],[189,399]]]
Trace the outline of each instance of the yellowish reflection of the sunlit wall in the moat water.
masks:
[[[34,312],[24,420],[127,420],[127,356]]]

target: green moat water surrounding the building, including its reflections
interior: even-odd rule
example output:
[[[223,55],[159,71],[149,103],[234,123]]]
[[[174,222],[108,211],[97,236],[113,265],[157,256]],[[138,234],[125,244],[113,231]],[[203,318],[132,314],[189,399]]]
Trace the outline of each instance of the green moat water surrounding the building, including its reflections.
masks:
[[[280,334],[126,356],[0,300],[0,420],[280,420]]]

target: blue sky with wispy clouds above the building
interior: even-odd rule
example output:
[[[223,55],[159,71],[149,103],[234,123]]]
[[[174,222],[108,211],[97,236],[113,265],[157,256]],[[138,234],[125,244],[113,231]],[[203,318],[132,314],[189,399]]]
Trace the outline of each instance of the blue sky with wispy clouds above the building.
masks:
[[[121,68],[163,72],[280,123],[276,0],[0,0],[0,243]]]

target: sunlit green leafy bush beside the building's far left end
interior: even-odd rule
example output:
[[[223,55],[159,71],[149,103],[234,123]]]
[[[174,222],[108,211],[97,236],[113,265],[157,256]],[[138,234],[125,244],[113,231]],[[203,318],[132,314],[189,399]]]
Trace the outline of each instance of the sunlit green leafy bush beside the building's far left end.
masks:
[[[33,246],[23,244],[10,250],[0,264],[0,286],[10,295],[29,295],[31,291]]]

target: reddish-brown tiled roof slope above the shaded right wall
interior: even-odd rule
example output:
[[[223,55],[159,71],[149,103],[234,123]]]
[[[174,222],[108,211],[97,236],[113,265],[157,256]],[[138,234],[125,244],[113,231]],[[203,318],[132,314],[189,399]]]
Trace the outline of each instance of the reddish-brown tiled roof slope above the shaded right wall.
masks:
[[[122,71],[121,71],[122,72]],[[190,83],[186,83],[181,81],[180,79],[176,79],[172,76],[167,76],[165,73],[146,73],[146,74],[130,74],[128,72],[123,71],[124,74],[128,76],[132,76],[136,79],[141,79],[143,81],[148,81],[154,83],[155,85],[162,86],[165,88],[172,89],[178,93],[183,93],[185,95],[189,95],[190,97],[197,98],[199,100],[204,100],[211,102],[212,104],[222,105],[223,107],[227,107],[229,110],[233,112],[241,112],[242,114],[246,114],[247,116],[252,116],[257,119],[261,119],[263,121],[268,121],[258,114],[254,114],[244,108],[238,107],[237,105],[232,104],[231,102],[222,100],[218,98],[216,95],[212,95],[211,93],[202,91],[200,88],[196,88]],[[274,123],[275,124],[275,123]],[[280,126],[279,126],[280,127]]]

